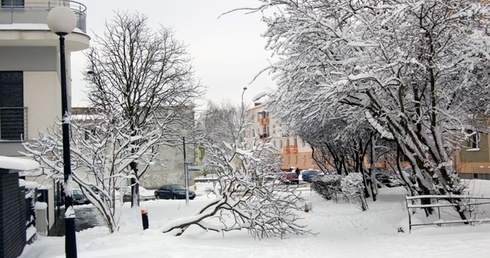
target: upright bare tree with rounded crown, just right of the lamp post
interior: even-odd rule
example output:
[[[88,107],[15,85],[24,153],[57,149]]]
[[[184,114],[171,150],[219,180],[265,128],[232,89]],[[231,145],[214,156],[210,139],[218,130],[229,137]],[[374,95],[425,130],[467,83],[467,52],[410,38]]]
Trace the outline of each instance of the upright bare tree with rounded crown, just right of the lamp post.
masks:
[[[194,80],[185,45],[174,38],[171,29],[162,26],[153,32],[144,15],[116,13],[106,23],[104,36],[95,36],[92,41],[86,68],[92,107],[121,112],[132,135],[145,130],[148,118],[166,108],[172,109],[161,115],[167,124],[177,127],[184,123],[179,115],[186,112],[180,112],[179,107],[188,109],[204,89]],[[165,136],[167,143],[172,140],[168,132]],[[178,139],[177,132],[174,136]],[[144,142],[133,143],[134,152],[140,144]],[[139,206],[138,179],[147,167],[138,168],[138,160],[130,167],[134,175],[131,205]]]

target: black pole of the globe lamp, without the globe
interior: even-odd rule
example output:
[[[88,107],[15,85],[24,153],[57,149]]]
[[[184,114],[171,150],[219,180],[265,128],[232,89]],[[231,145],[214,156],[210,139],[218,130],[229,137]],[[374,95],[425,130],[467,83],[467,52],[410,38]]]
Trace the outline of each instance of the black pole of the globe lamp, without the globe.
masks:
[[[68,258],[77,257],[77,239],[75,235],[75,210],[73,209],[73,190],[71,188],[71,161],[70,161],[70,121],[68,117],[68,94],[66,89],[66,60],[65,35],[60,36],[60,69],[61,69],[61,107],[63,118],[63,175],[65,182],[65,255]]]

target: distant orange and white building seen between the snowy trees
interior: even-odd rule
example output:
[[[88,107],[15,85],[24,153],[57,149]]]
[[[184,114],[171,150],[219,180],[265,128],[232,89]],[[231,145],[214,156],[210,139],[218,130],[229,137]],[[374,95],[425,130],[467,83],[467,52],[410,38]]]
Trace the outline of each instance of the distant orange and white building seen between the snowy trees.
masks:
[[[284,132],[281,121],[271,117],[264,106],[255,103],[255,106],[246,112],[252,123],[245,135],[248,144],[252,144],[252,140],[256,136],[272,143],[277,150],[276,154],[282,158],[282,170],[289,170],[291,167],[301,170],[319,169],[316,162],[311,158],[310,145],[300,137]]]

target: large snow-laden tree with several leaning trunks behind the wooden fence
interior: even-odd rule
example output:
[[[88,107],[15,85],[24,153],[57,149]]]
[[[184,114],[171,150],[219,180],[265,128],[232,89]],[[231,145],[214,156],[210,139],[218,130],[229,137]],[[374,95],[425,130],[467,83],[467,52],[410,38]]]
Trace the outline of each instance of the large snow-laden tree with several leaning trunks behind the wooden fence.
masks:
[[[289,105],[281,112],[328,124],[329,110],[353,107],[351,116],[396,142],[414,168],[414,190],[462,193],[448,153],[468,132],[486,130],[473,117],[490,103],[488,3],[262,2],[268,48],[279,59],[274,99]]]

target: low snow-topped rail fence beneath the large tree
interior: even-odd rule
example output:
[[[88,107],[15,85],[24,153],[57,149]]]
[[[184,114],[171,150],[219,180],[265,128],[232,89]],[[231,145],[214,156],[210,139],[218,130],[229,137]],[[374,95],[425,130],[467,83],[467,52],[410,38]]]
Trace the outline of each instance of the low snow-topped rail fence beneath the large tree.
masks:
[[[419,204],[422,199],[430,199],[429,204]],[[409,232],[412,231],[414,226],[426,226],[426,225],[443,225],[443,224],[473,224],[490,222],[490,218],[477,218],[477,215],[484,214],[483,205],[490,204],[490,197],[482,196],[447,196],[447,195],[418,195],[406,197],[407,211],[408,211],[408,226]],[[454,219],[460,218],[456,208],[462,209],[468,219]],[[437,210],[437,220],[413,222],[412,213],[415,209],[427,209],[433,208]],[[487,213],[490,212],[490,205],[486,207]]]

